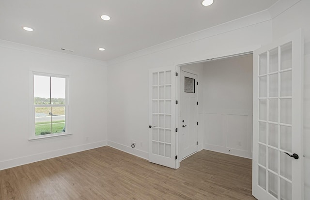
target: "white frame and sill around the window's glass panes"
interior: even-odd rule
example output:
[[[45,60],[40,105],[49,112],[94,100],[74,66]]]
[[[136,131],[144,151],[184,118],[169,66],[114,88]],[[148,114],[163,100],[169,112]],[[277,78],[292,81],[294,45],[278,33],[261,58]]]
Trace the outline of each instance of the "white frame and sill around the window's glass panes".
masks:
[[[57,138],[61,136],[67,136],[72,135],[70,133],[69,128],[69,122],[68,122],[68,113],[69,113],[69,76],[68,75],[59,75],[59,74],[52,74],[52,73],[42,73],[42,72],[34,72],[31,71],[30,73],[30,92],[29,92],[29,113],[30,113],[30,130],[29,130],[29,139],[28,140],[36,140],[36,139],[44,139],[44,138]],[[62,133],[53,133],[53,134],[47,134],[47,135],[35,135],[35,108],[41,107],[40,105],[34,104],[34,76],[44,76],[44,77],[59,77],[59,78],[65,78],[65,104],[61,105],[61,107],[65,107],[65,132]],[[42,107],[60,107],[60,105],[42,105]]]

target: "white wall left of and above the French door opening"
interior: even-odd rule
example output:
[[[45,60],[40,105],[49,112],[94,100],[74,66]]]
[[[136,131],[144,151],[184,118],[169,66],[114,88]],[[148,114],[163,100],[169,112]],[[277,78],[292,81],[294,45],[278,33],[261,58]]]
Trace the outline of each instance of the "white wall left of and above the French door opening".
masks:
[[[252,51],[271,41],[271,21],[240,27],[226,24],[110,61],[108,144],[147,158],[148,70]]]

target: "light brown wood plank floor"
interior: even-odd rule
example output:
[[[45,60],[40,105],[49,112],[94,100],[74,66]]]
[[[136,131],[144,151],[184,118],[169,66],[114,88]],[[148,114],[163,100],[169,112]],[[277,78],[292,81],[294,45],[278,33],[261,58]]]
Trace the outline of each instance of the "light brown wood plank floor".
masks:
[[[0,200],[255,200],[251,160],[202,150],[162,167],[111,147],[0,171]]]

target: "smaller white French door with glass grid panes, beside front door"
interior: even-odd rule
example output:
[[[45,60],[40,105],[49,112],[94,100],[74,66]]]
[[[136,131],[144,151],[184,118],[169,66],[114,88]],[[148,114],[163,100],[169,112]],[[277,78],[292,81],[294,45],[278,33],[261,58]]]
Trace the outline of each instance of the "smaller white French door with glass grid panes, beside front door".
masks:
[[[149,71],[149,161],[176,168],[175,67]]]

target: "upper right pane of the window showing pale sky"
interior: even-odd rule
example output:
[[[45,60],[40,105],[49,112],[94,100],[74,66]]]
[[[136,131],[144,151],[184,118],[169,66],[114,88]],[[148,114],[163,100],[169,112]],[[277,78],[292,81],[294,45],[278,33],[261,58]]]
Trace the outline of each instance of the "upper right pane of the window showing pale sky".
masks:
[[[51,77],[51,104],[65,104],[66,79]]]

